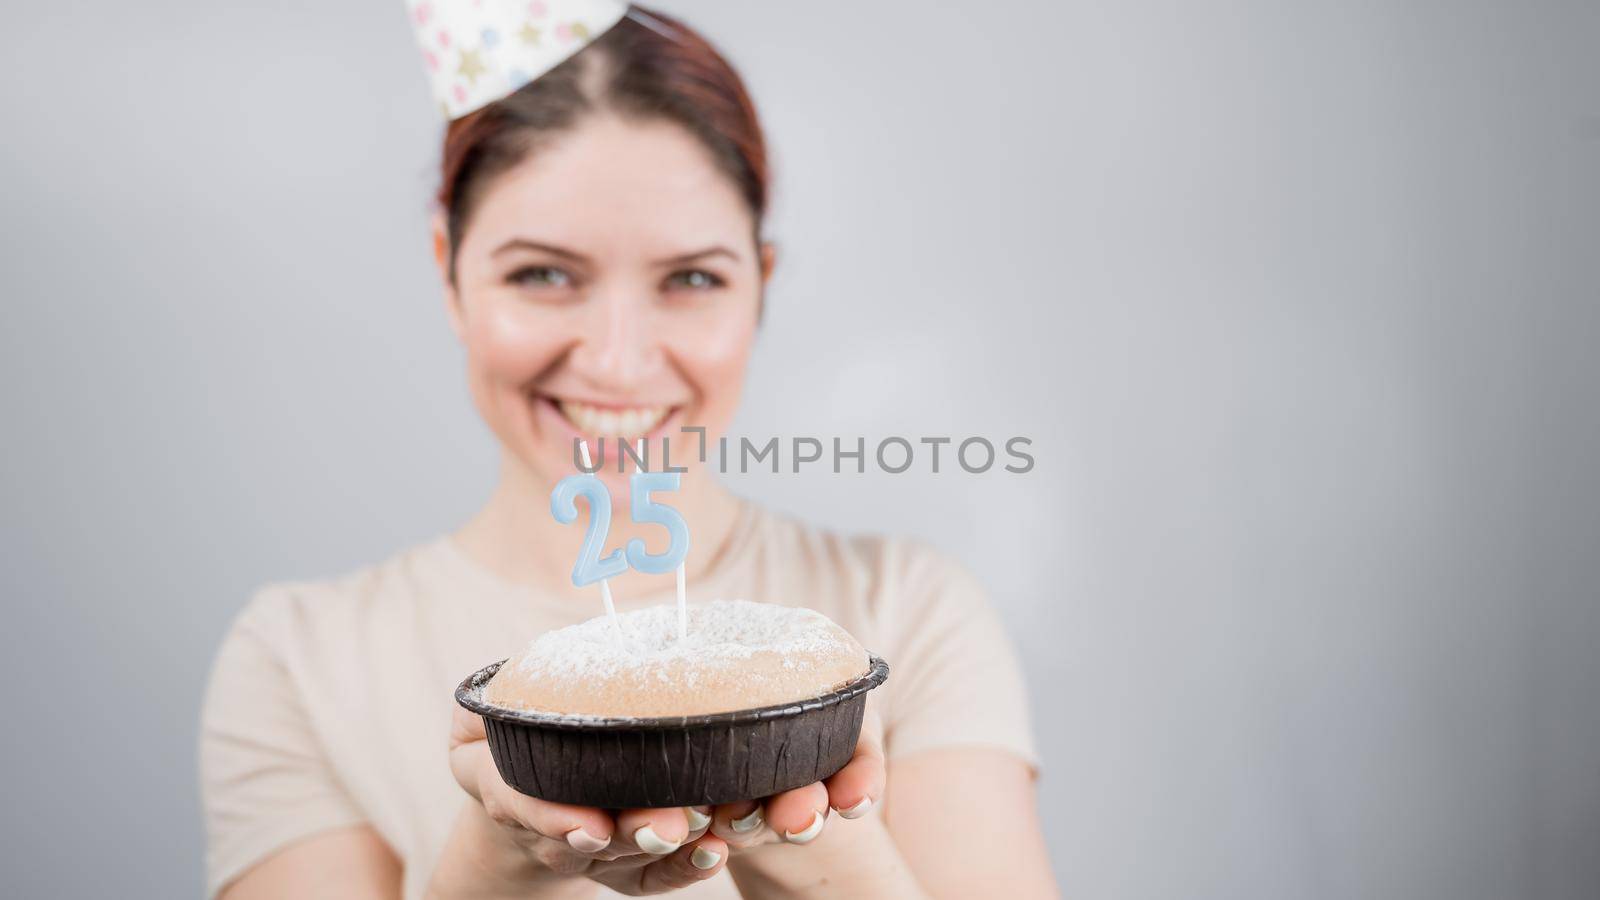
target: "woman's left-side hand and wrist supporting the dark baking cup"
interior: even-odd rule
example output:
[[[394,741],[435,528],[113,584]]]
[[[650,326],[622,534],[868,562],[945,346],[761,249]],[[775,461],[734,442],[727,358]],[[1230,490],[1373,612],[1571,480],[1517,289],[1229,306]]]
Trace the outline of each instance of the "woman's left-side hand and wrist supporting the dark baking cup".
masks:
[[[472,794],[451,833],[432,897],[526,897],[530,887],[587,894],[597,881],[621,894],[662,894],[712,878],[728,846],[709,807],[600,809],[554,804],[512,790],[494,769],[483,719],[458,708],[450,769]]]

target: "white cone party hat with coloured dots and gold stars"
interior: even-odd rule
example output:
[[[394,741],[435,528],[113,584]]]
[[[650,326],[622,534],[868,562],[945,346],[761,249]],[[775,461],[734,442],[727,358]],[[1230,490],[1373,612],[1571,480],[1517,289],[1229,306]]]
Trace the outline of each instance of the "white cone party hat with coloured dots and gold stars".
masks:
[[[549,72],[627,13],[621,0],[406,0],[446,119]]]

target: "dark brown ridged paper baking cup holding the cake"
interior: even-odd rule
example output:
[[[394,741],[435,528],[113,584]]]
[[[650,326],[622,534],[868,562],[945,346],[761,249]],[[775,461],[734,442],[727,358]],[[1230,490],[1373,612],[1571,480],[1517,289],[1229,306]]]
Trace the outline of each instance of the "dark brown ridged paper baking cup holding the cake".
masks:
[[[867,674],[798,703],[635,719],[491,706],[483,685],[504,661],[456,689],[456,703],[483,716],[501,778],[533,798],[600,809],[725,804],[821,781],[850,762],[867,692],[890,677],[872,657]]]

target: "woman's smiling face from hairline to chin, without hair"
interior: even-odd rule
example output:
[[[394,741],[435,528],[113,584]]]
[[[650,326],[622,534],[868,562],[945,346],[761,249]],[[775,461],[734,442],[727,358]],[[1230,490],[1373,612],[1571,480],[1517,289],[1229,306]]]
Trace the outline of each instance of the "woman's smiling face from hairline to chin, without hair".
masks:
[[[451,322],[478,412],[547,484],[573,439],[627,498],[616,442],[698,461],[733,418],[770,255],[733,181],[667,122],[592,115],[488,184],[461,237]],[[438,237],[435,235],[435,242]]]

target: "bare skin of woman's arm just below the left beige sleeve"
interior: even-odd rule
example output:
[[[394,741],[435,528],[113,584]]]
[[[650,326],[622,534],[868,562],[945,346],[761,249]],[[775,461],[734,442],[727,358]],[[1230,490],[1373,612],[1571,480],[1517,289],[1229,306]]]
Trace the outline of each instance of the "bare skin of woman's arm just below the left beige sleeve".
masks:
[[[325,831],[256,863],[218,900],[395,900],[400,860],[366,825]]]

